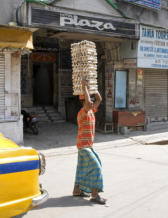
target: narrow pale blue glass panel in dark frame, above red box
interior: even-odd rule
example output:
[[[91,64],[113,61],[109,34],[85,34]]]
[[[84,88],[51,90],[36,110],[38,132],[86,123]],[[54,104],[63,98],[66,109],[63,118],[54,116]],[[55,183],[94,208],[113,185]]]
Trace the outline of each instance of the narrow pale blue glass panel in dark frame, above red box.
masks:
[[[127,72],[118,70],[115,77],[115,108],[126,108]]]

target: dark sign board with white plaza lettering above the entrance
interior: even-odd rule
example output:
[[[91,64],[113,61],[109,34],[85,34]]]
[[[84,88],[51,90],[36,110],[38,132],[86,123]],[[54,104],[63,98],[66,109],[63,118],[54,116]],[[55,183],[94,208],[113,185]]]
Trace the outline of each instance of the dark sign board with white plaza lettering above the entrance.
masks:
[[[52,26],[73,32],[96,32],[138,38],[136,34],[136,24],[134,23],[48,11],[45,9],[32,8],[31,22],[32,25],[40,24],[40,26]]]

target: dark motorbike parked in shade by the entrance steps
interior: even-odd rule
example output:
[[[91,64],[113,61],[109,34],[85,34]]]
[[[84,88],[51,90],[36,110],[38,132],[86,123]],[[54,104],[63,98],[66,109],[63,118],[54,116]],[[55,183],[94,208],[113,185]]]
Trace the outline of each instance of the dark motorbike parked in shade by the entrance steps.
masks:
[[[38,118],[37,115],[33,112],[28,113],[25,110],[22,110],[23,114],[23,129],[24,132],[31,130],[34,135],[38,135]]]

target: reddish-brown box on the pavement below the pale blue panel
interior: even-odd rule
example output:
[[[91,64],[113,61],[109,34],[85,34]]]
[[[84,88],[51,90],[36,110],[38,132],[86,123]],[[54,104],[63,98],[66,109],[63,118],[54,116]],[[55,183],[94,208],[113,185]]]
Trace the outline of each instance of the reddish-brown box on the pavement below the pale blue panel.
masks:
[[[113,111],[114,128],[145,126],[144,111]]]

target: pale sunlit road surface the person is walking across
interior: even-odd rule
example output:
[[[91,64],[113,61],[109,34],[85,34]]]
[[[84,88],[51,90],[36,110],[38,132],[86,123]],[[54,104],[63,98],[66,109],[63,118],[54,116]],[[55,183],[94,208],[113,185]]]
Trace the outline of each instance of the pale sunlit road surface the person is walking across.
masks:
[[[107,205],[72,197],[76,149],[47,154],[40,177],[49,199],[24,218],[167,218],[168,146],[142,145],[131,139],[96,143],[103,163]]]

